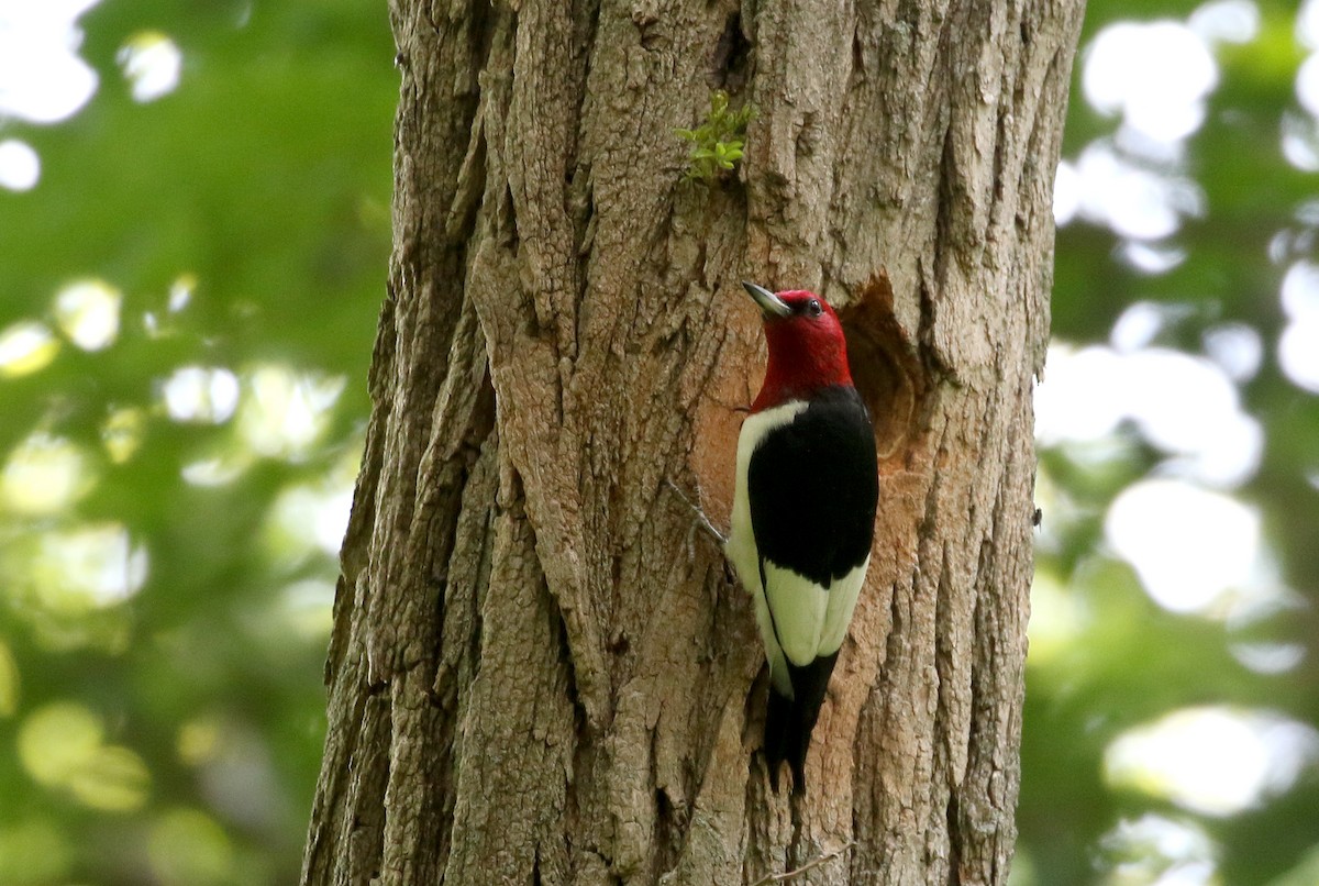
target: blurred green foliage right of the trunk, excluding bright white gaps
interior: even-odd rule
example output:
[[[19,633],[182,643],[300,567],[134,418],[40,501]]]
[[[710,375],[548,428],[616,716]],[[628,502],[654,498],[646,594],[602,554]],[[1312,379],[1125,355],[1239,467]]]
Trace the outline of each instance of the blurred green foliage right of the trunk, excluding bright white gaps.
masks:
[[[1130,138],[1121,112],[1100,112],[1088,100],[1083,82],[1096,36],[1124,20],[1191,24],[1203,34],[1208,13],[1254,25],[1241,41],[1206,41],[1217,76],[1203,100],[1203,123],[1171,150]],[[1287,326],[1279,305],[1283,278],[1297,262],[1319,260],[1319,166],[1306,157],[1319,138],[1314,116],[1298,103],[1298,70],[1319,46],[1303,45],[1303,15],[1319,25],[1314,3],[1089,3],[1064,160],[1076,163],[1093,145],[1104,145],[1134,169],[1188,182],[1198,199],[1166,236],[1124,236],[1120,225],[1087,218],[1084,208],[1064,224],[1057,241],[1054,339],[1121,352],[1132,347],[1122,343],[1121,324],[1136,315],[1137,303],[1161,318],[1138,345],[1142,352],[1216,360],[1216,332],[1253,332],[1262,345],[1258,367],[1241,373],[1235,388],[1240,409],[1262,430],[1258,463],[1235,481],[1188,483],[1216,485],[1258,513],[1264,563],[1250,580],[1269,603],[1170,612],[1113,550],[1105,518],[1115,500],[1142,480],[1186,476],[1179,454],[1151,440],[1138,422],[1122,422],[1099,446],[1042,442],[1037,494],[1045,516],[1028,663],[1017,883],[1319,882],[1319,778],[1310,729],[1319,723],[1319,399],[1289,378],[1278,359]],[[1307,144],[1291,160],[1282,145],[1287,132],[1299,132]],[[1310,347],[1319,352],[1319,340]],[[1053,356],[1042,393],[1051,382]],[[1216,552],[1208,538],[1192,537],[1190,548],[1196,558]],[[1183,572],[1194,571],[1194,563],[1184,566]],[[1275,658],[1252,657],[1252,650]],[[1279,748],[1290,749],[1297,765],[1232,812],[1196,810],[1166,786],[1115,778],[1111,755],[1124,734],[1204,705],[1283,724],[1277,728],[1289,730],[1291,741],[1272,745],[1274,757]],[[1203,749],[1231,746],[1221,724],[1210,725],[1212,717],[1199,723],[1204,725],[1186,733],[1177,749],[1204,787],[1231,777],[1250,754],[1211,754],[1195,769]],[[1266,734],[1273,740],[1281,733]],[[1286,761],[1273,763],[1287,769]]]

